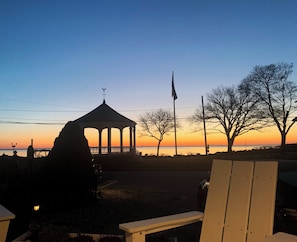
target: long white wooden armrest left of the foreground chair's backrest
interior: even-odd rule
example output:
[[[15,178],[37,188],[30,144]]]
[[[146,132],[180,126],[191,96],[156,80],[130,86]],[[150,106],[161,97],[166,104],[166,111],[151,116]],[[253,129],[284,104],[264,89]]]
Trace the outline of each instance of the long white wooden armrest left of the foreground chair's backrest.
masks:
[[[191,211],[185,213],[179,213],[164,217],[145,219],[130,223],[120,224],[121,230],[126,233],[134,234],[142,232],[144,234],[156,233],[163,230],[168,230],[176,227],[181,227],[187,224],[201,221],[203,213],[198,211]]]

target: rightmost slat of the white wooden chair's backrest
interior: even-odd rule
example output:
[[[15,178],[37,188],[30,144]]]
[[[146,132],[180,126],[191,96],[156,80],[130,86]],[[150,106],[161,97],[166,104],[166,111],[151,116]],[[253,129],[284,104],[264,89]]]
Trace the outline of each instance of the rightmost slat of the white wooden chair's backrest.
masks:
[[[263,240],[273,233],[277,171],[276,161],[255,162],[248,242]]]

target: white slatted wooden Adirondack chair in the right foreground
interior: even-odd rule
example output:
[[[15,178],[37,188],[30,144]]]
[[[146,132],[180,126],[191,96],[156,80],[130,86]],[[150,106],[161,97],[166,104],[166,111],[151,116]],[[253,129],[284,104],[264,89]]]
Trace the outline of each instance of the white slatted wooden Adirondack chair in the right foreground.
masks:
[[[203,221],[200,242],[297,242],[297,236],[273,235],[278,163],[214,160],[204,213],[120,224],[126,242],[144,242],[147,234]]]

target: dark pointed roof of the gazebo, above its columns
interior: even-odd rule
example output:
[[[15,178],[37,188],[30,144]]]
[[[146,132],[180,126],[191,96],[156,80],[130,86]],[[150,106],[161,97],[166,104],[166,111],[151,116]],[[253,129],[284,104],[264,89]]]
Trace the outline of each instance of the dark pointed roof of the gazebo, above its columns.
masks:
[[[99,130],[133,127],[136,125],[133,120],[126,118],[108,106],[105,100],[103,100],[100,106],[76,119],[75,122],[79,123],[82,128],[97,128]]]

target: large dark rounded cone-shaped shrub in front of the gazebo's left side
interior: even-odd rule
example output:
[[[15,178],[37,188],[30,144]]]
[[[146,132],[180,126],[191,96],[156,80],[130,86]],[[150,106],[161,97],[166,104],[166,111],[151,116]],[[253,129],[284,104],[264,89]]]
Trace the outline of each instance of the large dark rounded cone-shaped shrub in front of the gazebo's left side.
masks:
[[[82,129],[68,122],[56,138],[44,166],[47,203],[71,205],[87,197],[93,177],[92,155]]]

